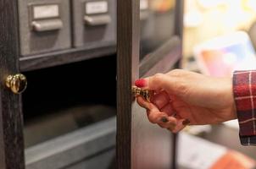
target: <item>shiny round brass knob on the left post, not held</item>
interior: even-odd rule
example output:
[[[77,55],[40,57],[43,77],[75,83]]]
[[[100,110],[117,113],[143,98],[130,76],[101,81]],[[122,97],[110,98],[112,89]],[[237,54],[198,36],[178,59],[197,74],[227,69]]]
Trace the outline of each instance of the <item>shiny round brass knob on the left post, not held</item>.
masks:
[[[20,94],[25,90],[27,81],[23,74],[8,75],[5,80],[5,85],[12,90],[14,94]]]

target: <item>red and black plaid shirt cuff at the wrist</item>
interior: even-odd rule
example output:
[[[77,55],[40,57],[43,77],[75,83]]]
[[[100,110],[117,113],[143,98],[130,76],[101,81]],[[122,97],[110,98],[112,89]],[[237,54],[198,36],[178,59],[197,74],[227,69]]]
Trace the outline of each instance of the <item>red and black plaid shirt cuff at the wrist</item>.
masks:
[[[233,92],[241,144],[256,144],[256,71],[234,72]]]

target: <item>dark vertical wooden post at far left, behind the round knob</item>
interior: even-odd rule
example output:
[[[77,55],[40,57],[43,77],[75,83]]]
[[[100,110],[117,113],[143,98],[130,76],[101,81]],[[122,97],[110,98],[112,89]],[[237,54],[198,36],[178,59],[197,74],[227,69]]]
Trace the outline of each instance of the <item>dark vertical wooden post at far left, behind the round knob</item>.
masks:
[[[23,169],[23,117],[20,97],[5,85],[8,74],[18,73],[19,38],[16,0],[0,0],[0,168]]]

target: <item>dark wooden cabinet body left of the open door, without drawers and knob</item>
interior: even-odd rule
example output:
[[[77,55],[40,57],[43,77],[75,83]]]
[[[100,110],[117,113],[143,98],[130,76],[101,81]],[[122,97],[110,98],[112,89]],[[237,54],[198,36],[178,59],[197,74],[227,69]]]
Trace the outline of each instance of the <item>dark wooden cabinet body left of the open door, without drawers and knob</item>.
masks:
[[[0,0],[0,168],[112,168],[115,41],[21,57],[18,3],[24,2]],[[93,91],[101,88],[93,68],[108,69],[102,74],[108,90]],[[8,75],[18,73],[27,76],[24,95],[5,84]],[[85,113],[70,113],[81,109]],[[48,116],[54,112],[61,117]],[[28,123],[29,118],[36,121]]]

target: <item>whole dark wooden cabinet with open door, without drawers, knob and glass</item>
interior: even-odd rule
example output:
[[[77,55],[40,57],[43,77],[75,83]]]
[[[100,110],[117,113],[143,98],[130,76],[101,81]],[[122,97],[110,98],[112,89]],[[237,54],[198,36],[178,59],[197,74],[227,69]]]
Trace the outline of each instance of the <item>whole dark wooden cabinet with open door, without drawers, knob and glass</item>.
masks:
[[[177,67],[183,1],[175,2],[174,34],[140,59],[139,1],[117,0],[117,44],[108,41],[92,48],[72,46],[21,56],[18,3],[22,1],[0,0],[0,168],[174,168],[175,136],[147,122],[131,95],[131,85],[140,77]],[[8,75],[19,73],[28,80],[24,95],[14,94],[5,84]],[[65,115],[78,104],[96,104],[86,109],[96,119],[82,113]],[[63,117],[52,120],[48,115],[55,112]],[[34,117],[44,120],[28,123]],[[75,127],[74,119],[79,119]],[[58,123],[74,128],[51,138],[50,130]],[[27,135],[34,138],[28,141]]]

